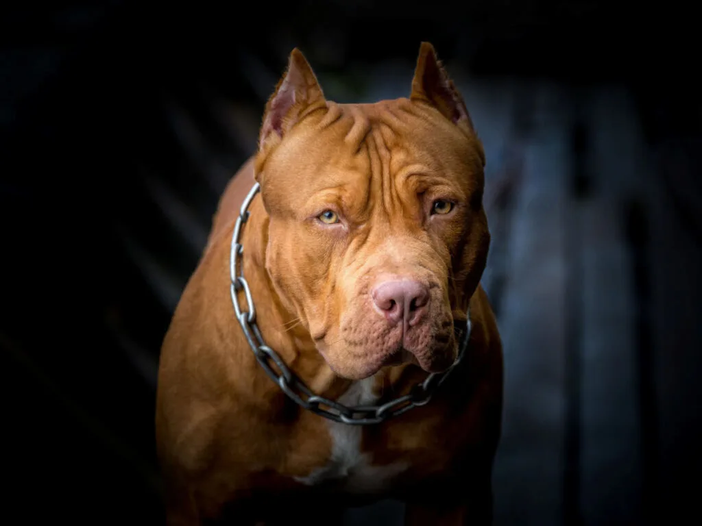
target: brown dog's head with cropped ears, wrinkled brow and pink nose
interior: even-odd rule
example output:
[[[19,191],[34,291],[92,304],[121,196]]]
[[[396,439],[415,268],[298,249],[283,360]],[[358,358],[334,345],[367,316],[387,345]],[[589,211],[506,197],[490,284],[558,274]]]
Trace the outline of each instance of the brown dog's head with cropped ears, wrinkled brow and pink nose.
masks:
[[[338,375],[453,363],[453,323],[465,321],[489,247],[484,161],[429,43],[409,98],[376,104],[326,101],[293,50],[256,159],[266,267]]]

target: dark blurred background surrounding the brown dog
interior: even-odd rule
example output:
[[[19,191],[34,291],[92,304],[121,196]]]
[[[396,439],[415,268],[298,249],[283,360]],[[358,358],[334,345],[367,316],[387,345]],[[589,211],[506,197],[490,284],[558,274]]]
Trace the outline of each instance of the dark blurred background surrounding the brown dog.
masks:
[[[507,382],[496,522],[699,522],[693,11],[173,4],[0,8],[1,473],[13,523],[161,520],[160,342],[287,55],[303,50],[330,99],[372,101],[409,93],[422,40],[457,77],[488,154],[484,285]],[[379,510],[368,513],[399,516]]]

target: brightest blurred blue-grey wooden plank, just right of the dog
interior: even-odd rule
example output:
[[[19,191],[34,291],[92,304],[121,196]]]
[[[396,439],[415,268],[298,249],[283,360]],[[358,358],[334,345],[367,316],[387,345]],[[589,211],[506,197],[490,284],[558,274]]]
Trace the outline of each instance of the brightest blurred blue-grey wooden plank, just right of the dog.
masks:
[[[494,473],[496,525],[549,526],[562,518],[569,102],[553,86],[534,86],[532,93],[533,129],[524,137],[500,320],[505,405]]]

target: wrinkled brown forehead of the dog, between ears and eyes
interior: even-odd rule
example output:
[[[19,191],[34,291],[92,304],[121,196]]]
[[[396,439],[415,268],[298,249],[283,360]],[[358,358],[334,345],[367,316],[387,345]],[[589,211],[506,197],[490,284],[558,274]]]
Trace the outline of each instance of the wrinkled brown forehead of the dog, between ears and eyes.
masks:
[[[482,186],[475,137],[428,107],[406,99],[335,104],[291,130],[265,160],[269,194],[303,202],[327,189],[364,193],[373,180],[413,172],[468,195]]]

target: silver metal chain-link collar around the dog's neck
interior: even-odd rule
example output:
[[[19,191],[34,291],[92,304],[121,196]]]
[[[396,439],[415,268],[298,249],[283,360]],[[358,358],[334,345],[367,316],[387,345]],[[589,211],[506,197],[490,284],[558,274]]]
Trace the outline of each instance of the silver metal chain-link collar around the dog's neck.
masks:
[[[383,405],[357,405],[354,407],[347,407],[333,400],[329,400],[328,398],[324,398],[323,396],[315,395],[293,374],[282,358],[265,344],[260,330],[258,329],[258,325],[256,324],[256,307],[253,304],[249,283],[246,281],[246,278],[244,278],[244,266],[241,264],[244,247],[239,243],[241,226],[249,220],[249,205],[251,205],[251,201],[253,201],[254,196],[256,196],[259,190],[260,185],[257,182],[253,185],[251,191],[249,191],[249,195],[246,196],[246,199],[244,199],[244,203],[241,204],[237,224],[234,226],[232,250],[230,253],[230,278],[232,281],[230,290],[232,293],[234,312],[237,314],[237,320],[239,320],[241,330],[244,331],[244,336],[246,336],[246,340],[249,342],[249,346],[251,346],[253,355],[256,356],[256,360],[258,360],[258,363],[263,367],[266,374],[300,407],[304,407],[306,410],[310,410],[334,422],[343,422],[344,424],[378,424],[380,422],[385,422],[385,420],[391,417],[397,417],[411,410],[413,407],[427,404],[429,400],[431,400],[435,389],[444,383],[449,373],[461,363],[465,356],[465,349],[468,347],[468,340],[470,339],[470,316],[468,316],[465,332],[458,329],[458,332],[463,332],[463,339],[461,339],[458,356],[456,357],[456,361],[453,362],[453,365],[444,372],[432,373],[424,382],[420,382],[414,386],[409,394],[390,400]],[[241,290],[244,291],[246,304],[249,308],[248,311],[241,309],[241,305],[239,304],[237,292]],[[280,370],[280,374],[275,372],[271,367],[271,363],[277,366]],[[326,406],[327,408],[322,406]]]

